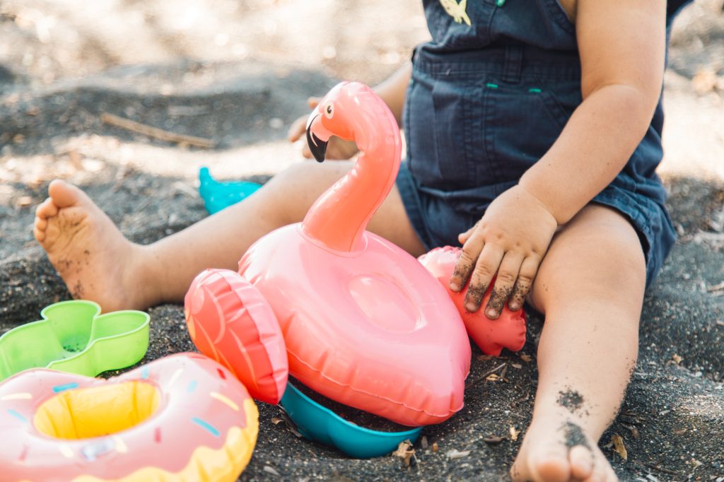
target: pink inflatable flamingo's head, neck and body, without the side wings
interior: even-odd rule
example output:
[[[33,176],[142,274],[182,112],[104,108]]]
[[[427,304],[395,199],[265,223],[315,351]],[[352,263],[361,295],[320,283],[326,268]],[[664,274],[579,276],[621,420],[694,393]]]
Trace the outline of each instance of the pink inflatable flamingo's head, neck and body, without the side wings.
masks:
[[[365,230],[400,166],[397,122],[371,89],[341,83],[308,121],[317,160],[332,135],[357,143],[353,169],[302,223],[249,248],[239,273],[269,303],[300,383],[403,425],[442,422],[463,407],[465,326],[424,266]]]

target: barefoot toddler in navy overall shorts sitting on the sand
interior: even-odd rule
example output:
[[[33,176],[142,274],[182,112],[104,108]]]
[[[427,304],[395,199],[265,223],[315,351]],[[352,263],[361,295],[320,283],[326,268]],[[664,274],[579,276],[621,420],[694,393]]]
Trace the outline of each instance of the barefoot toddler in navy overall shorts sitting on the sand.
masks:
[[[463,245],[450,287],[470,280],[470,311],[495,319],[505,303],[527,301],[544,313],[513,480],[615,481],[597,441],[636,363],[644,289],[675,238],[654,170],[668,25],[686,1],[423,3],[432,40],[376,88],[408,152],[368,229],[414,256]],[[303,131],[300,120],[290,140]],[[327,153],[349,158],[355,146],[337,140]],[[254,241],[301,221],[351,165],[296,164],[146,246],[56,180],[35,238],[72,295],[105,311],[180,303],[199,271],[236,269]]]

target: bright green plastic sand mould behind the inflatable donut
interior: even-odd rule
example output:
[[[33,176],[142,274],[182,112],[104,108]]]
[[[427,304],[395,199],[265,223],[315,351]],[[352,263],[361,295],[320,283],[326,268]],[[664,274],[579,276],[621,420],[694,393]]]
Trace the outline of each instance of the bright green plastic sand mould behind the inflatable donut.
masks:
[[[92,301],[49,305],[43,319],[0,337],[0,381],[28,368],[96,376],[138,363],[148,350],[148,313],[135,310],[101,315]]]

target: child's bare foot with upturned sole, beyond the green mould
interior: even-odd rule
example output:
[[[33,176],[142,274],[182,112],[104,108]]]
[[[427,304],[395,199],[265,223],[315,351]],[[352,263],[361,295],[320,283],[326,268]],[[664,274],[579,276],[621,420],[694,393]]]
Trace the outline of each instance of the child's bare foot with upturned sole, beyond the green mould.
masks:
[[[104,311],[148,308],[151,294],[135,269],[143,266],[143,248],[123,237],[77,187],[56,179],[48,193],[35,210],[33,233],[70,294],[93,300]]]

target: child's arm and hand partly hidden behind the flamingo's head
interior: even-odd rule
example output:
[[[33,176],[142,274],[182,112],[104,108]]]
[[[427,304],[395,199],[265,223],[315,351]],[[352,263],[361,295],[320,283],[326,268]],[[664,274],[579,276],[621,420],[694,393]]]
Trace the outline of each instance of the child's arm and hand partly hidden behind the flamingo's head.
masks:
[[[380,98],[390,107],[392,114],[395,114],[397,124],[402,124],[403,106],[405,104],[405,92],[410,83],[412,75],[412,62],[406,62],[402,67],[397,69],[390,77],[383,80],[374,88]],[[307,104],[310,109],[314,109],[319,103],[320,98],[310,97]],[[290,142],[295,142],[304,135],[306,129],[307,116],[300,117],[289,129],[287,138]],[[332,138],[327,145],[327,157],[330,159],[348,159],[357,153],[357,145],[355,143],[342,140],[340,138]],[[308,146],[305,144],[302,148],[302,156],[311,158],[312,154]]]

